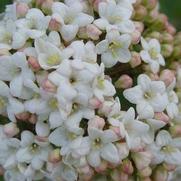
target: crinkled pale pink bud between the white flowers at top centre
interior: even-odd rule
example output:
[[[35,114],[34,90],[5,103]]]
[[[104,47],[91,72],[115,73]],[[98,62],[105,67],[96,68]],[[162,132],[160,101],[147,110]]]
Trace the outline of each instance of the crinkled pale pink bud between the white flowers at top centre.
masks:
[[[92,40],[98,40],[101,34],[102,31],[100,31],[95,25],[90,24],[87,26],[87,35]]]

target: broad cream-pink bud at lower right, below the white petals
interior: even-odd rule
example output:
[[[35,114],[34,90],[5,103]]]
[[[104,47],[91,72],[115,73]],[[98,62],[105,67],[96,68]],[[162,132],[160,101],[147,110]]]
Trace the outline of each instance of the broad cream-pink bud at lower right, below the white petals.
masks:
[[[152,155],[149,152],[142,151],[142,152],[135,152],[132,153],[133,161],[136,165],[138,170],[143,170],[144,168],[148,167],[151,163]]]

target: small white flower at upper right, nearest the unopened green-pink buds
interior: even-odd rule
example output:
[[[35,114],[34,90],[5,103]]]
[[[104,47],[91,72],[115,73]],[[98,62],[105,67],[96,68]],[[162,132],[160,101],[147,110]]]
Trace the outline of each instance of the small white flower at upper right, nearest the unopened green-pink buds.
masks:
[[[148,42],[141,38],[143,50],[140,52],[142,60],[150,65],[151,71],[157,73],[160,65],[165,66],[165,60],[161,55],[160,43],[157,39],[150,39]]]

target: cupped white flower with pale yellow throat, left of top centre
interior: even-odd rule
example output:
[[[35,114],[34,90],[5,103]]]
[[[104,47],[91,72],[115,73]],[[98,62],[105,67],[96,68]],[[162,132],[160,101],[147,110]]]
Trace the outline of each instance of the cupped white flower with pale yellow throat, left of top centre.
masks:
[[[70,49],[61,50],[43,39],[35,40],[35,49],[38,54],[39,64],[45,70],[58,68],[63,60],[68,59],[72,55]]]

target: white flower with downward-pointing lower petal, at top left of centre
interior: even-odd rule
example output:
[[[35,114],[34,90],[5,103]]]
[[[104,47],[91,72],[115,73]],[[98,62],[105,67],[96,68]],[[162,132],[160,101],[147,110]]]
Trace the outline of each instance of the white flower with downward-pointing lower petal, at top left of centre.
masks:
[[[93,17],[83,13],[82,8],[76,3],[67,6],[61,2],[54,2],[52,12],[53,18],[61,24],[60,33],[65,41],[73,40],[80,27],[93,21]]]

